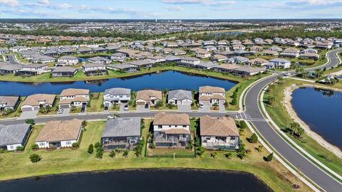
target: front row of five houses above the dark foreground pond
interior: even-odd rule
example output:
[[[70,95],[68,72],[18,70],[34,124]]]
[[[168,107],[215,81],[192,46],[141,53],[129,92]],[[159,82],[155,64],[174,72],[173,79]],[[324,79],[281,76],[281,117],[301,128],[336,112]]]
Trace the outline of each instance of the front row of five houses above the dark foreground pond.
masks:
[[[34,142],[41,149],[71,147],[80,142],[82,122],[80,119],[46,122]],[[157,113],[152,126],[156,147],[185,148],[193,139],[188,114]],[[100,142],[105,150],[133,149],[140,140],[140,129],[140,117],[109,119]],[[30,124],[0,124],[0,148],[15,151],[25,145],[30,132]],[[206,149],[239,149],[239,132],[232,117],[200,117],[199,134]]]

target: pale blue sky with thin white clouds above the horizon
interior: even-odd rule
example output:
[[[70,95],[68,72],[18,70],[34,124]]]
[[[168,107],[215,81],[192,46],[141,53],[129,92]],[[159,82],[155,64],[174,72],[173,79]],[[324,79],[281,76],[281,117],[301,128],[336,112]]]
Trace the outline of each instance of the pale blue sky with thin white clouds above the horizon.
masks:
[[[342,0],[0,0],[0,18],[342,18]]]

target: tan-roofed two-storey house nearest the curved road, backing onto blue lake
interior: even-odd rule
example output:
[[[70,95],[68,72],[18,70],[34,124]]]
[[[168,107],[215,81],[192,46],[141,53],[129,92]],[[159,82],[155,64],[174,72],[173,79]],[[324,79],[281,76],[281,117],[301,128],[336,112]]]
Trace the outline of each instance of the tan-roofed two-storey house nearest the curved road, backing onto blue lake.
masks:
[[[226,90],[222,87],[199,87],[198,100],[200,105],[224,104],[226,102]]]

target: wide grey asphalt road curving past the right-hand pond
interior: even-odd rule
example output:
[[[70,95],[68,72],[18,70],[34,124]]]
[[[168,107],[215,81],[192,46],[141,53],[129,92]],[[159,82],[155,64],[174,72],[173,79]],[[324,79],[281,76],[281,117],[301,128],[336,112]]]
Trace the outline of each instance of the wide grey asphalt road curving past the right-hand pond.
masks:
[[[308,68],[306,70],[315,70],[316,68],[331,68],[338,65],[339,60],[336,57],[336,53],[341,50],[332,50],[328,53],[328,58],[330,61],[326,63],[326,65],[318,66],[315,68]],[[341,183],[338,183],[335,179],[328,176],[321,169],[318,169],[314,164],[312,164],[309,160],[305,159],[304,156],[299,154],[298,151],[293,149],[287,142],[285,142],[279,134],[269,125],[266,121],[253,121],[253,119],[264,119],[261,110],[259,109],[259,93],[264,89],[266,85],[270,82],[276,80],[276,78],[283,76],[283,74],[274,75],[271,78],[266,78],[265,80],[261,80],[257,82],[257,84],[253,85],[251,89],[247,92],[246,102],[245,102],[245,114],[248,119],[251,119],[251,123],[254,124],[254,127],[259,131],[259,133],[266,139],[271,146],[276,149],[276,151],[284,156],[284,158],[289,161],[291,164],[296,166],[303,174],[305,174],[308,178],[310,178],[314,183],[323,188],[325,191],[342,191]]]

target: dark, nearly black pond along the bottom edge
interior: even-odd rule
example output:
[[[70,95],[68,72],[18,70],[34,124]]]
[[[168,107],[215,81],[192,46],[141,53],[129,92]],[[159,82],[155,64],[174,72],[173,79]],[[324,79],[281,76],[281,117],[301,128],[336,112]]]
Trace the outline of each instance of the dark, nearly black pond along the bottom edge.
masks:
[[[271,191],[252,174],[191,169],[87,172],[0,182],[1,191]]]

